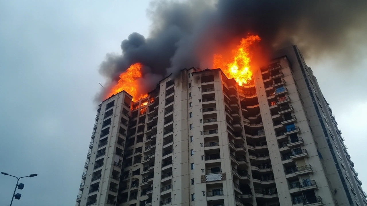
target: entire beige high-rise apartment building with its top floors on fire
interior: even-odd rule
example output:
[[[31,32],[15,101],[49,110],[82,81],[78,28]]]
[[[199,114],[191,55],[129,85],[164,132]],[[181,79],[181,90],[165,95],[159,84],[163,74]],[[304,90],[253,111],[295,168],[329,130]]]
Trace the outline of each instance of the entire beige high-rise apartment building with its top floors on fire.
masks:
[[[192,68],[131,99],[99,105],[77,206],[367,205],[295,45],[243,86]]]

